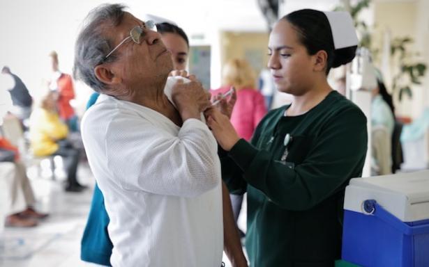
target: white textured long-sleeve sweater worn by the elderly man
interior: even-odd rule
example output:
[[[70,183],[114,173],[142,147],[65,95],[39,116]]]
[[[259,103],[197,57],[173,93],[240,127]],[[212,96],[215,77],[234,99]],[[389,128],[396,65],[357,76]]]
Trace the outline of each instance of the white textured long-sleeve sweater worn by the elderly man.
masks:
[[[84,115],[82,139],[110,216],[113,266],[220,266],[220,162],[203,122],[177,127],[100,95]]]

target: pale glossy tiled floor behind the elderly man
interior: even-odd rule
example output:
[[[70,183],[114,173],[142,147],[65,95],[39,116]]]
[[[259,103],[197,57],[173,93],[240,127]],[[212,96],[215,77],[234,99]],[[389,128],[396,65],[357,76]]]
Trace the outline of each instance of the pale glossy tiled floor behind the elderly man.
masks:
[[[31,184],[38,200],[38,209],[50,216],[33,228],[9,228],[0,243],[0,267],[79,267],[92,266],[80,261],[80,238],[91,202],[94,179],[88,165],[82,163],[78,171],[82,184],[89,186],[82,193],[63,191],[63,174],[57,180],[37,178],[29,169]],[[246,210],[246,207],[243,207]],[[239,218],[239,224],[245,218]],[[1,241],[0,241],[1,242]],[[230,266],[224,257],[226,266]]]

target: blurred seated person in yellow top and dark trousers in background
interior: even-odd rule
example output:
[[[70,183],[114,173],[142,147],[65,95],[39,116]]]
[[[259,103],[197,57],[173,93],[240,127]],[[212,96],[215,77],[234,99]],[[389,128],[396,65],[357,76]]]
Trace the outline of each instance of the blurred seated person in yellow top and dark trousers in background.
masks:
[[[57,111],[58,93],[50,91],[43,97],[40,108],[30,117],[30,143],[35,156],[63,157],[67,173],[66,191],[80,192],[84,188],[77,182],[77,165],[80,152],[67,140],[67,125],[61,122]]]

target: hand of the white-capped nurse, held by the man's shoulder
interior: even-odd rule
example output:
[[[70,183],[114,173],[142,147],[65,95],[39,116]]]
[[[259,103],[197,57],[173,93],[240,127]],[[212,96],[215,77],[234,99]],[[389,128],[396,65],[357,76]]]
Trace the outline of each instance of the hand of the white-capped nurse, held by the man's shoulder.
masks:
[[[229,122],[229,118],[213,106],[207,108],[204,111],[204,115],[206,116],[207,125],[210,127],[219,145],[225,151],[231,150],[240,140],[240,137],[231,122]]]

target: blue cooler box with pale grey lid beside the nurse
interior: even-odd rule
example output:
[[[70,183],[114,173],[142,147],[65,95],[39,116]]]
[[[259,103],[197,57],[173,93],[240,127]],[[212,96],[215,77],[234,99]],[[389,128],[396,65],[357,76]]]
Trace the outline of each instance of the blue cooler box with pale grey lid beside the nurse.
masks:
[[[429,267],[429,170],[352,179],[344,209],[343,260]]]

